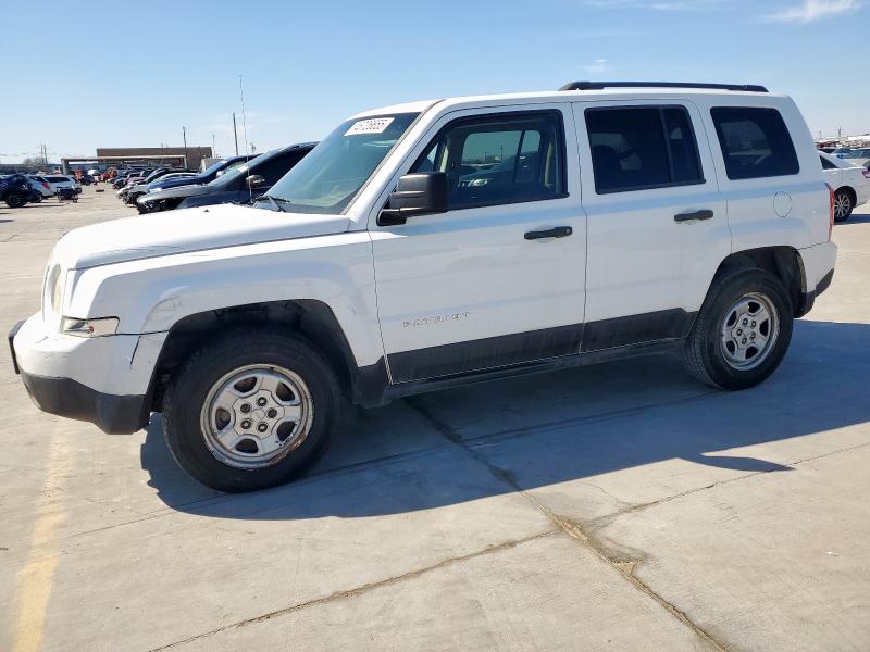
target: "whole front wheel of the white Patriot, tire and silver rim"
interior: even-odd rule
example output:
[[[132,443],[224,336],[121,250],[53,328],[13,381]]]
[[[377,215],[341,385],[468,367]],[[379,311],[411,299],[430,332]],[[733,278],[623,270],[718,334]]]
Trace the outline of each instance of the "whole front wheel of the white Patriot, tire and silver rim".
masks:
[[[163,400],[175,461],[219,491],[254,491],[299,476],[338,422],[335,373],[306,340],[237,331],[197,351]]]

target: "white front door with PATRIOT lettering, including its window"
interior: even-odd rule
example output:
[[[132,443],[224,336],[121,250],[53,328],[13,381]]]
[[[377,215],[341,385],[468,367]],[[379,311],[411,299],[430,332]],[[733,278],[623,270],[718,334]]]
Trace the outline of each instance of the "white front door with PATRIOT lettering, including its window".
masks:
[[[443,172],[446,213],[370,225],[393,383],[576,354],[585,216],[568,104],[448,113],[397,173]]]

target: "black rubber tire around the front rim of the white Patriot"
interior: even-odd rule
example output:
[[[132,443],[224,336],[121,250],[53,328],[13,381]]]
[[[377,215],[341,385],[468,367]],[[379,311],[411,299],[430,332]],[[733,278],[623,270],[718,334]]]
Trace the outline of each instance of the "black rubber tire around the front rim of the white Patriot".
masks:
[[[301,442],[258,468],[239,468],[219,459],[207,443],[200,423],[212,388],[227,374],[248,365],[283,367],[298,375],[310,392],[312,406],[310,427]],[[333,437],[340,409],[335,373],[311,343],[268,329],[236,330],[203,346],[176,372],[163,399],[163,435],[178,465],[207,487],[227,492],[256,491],[283,485],[316,462]],[[253,427],[248,426],[251,430]]]

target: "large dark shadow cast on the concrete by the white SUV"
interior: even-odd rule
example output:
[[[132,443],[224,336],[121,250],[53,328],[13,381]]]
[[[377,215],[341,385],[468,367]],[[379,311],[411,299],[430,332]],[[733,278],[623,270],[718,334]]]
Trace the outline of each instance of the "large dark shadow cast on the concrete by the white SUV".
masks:
[[[154,415],[141,464],[167,506],[241,519],[406,513],[675,459],[786,472],[774,462],[716,452],[870,421],[867,378],[870,325],[799,321],[776,374],[743,392],[696,385],[679,361],[650,356],[349,410],[331,451],[307,477],[241,496],[211,491],[182,472]],[[534,400],[518,408],[523,394]],[[421,428],[436,434],[414,439]],[[474,481],[482,471],[496,473]],[[513,484],[494,480],[506,477]]]

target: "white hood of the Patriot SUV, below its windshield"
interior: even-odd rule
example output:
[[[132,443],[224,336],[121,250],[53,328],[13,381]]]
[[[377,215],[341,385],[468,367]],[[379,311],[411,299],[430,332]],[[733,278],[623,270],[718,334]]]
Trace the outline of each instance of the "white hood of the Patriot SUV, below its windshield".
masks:
[[[279,213],[235,204],[146,213],[94,224],[66,234],[52,260],[65,269],[85,269],[141,259],[309,238],[347,230],[344,215]]]

